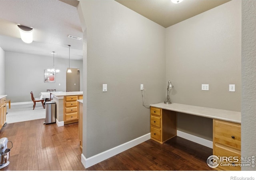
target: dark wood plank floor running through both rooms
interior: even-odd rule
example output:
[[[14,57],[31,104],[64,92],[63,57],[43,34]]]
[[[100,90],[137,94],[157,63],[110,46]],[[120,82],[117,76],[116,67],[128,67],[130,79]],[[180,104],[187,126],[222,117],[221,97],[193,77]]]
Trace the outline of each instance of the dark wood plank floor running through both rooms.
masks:
[[[81,163],[78,123],[58,127],[44,119],[7,124],[0,138],[12,141],[5,171],[208,171],[212,149],[175,137],[164,144],[147,140],[87,169]],[[8,143],[11,147],[11,143]]]

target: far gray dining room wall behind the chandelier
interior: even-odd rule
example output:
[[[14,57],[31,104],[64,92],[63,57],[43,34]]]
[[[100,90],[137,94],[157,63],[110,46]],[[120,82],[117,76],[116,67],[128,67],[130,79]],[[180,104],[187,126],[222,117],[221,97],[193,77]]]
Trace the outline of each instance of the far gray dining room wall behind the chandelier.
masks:
[[[82,63],[80,60],[70,60],[72,68],[82,70]],[[40,92],[46,92],[46,89],[66,91],[68,65],[68,59],[54,56],[54,66],[60,69],[60,72],[55,76],[55,83],[45,83],[44,70],[52,68],[53,56],[5,52],[5,94],[13,103],[31,101],[30,91],[33,91],[34,97],[39,97]]]

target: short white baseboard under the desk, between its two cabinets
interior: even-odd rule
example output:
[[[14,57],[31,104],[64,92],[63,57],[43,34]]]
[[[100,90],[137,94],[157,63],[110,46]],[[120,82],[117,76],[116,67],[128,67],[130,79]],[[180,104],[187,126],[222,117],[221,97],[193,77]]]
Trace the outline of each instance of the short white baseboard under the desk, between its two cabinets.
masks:
[[[197,144],[201,144],[208,148],[212,148],[212,146],[213,146],[212,141],[210,141],[210,140],[206,140],[206,139],[203,139],[203,138],[200,138],[200,137],[197,137],[197,136],[194,136],[194,135],[191,135],[186,132],[179,131],[179,130],[177,130],[177,136],[187,139],[187,140],[190,140],[190,141],[193,141],[193,142],[196,142]]]

